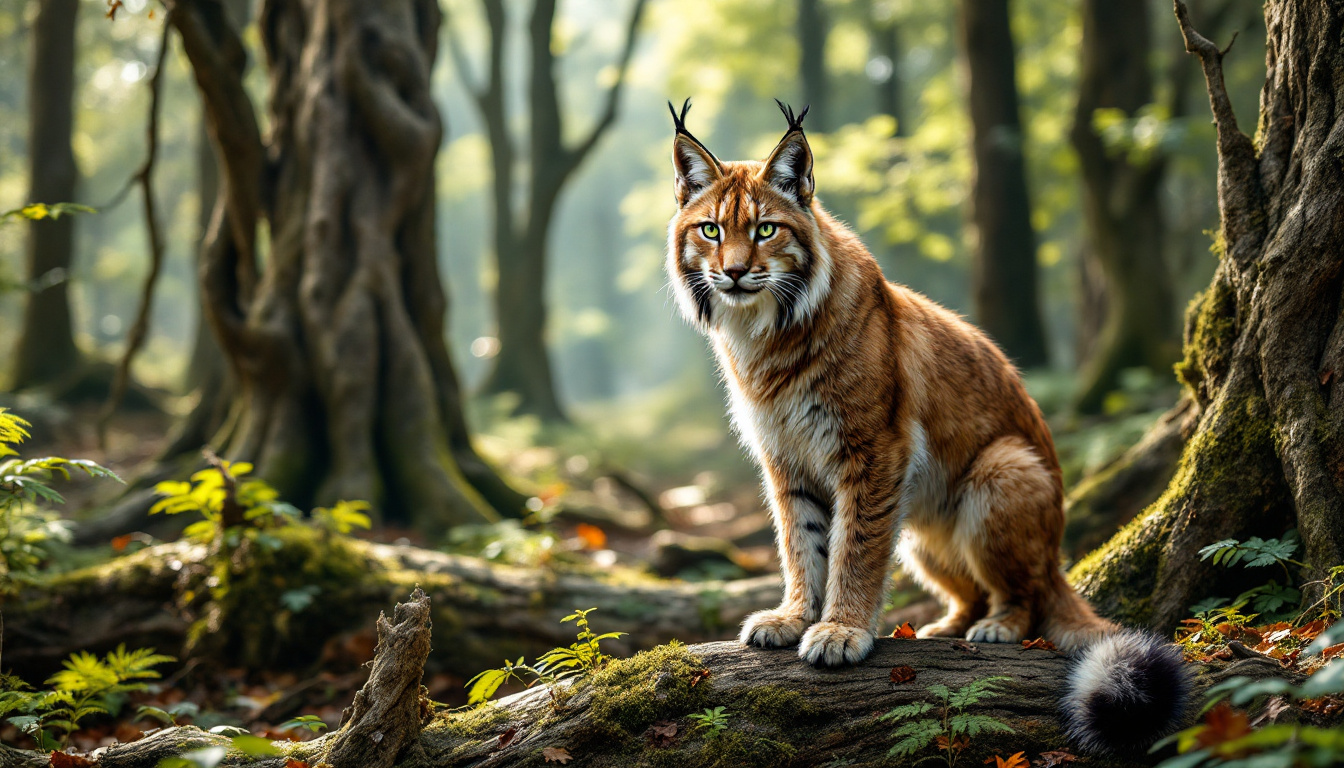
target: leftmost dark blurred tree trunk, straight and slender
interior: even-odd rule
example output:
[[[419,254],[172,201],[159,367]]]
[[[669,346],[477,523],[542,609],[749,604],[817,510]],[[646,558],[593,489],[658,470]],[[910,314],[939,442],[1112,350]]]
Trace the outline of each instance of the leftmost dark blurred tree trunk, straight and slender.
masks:
[[[79,168],[74,129],[78,0],[39,0],[28,62],[28,202],[70,203]],[[28,222],[27,278],[50,285],[27,295],[9,386],[23,390],[67,378],[81,366],[70,319],[69,281],[75,217]],[[59,276],[59,280],[51,280]]]

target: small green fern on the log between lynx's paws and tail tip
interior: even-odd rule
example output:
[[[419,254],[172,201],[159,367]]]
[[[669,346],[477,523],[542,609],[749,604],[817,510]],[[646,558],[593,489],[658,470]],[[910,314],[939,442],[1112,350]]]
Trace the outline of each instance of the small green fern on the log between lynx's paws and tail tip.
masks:
[[[957,765],[957,759],[970,746],[970,740],[981,733],[1012,733],[1008,724],[1001,722],[988,714],[968,714],[966,707],[981,701],[999,695],[997,685],[1012,679],[1007,677],[992,677],[972,681],[970,683],[950,690],[948,686],[929,686],[926,690],[941,699],[941,713],[938,717],[922,717],[934,710],[935,705],[927,701],[917,701],[898,706],[882,716],[883,721],[903,722],[900,728],[891,732],[892,738],[898,738],[887,755],[892,757],[911,757],[930,744],[937,745],[938,755],[930,755],[918,760],[943,760],[948,768]],[[921,718],[921,720],[915,720]]]

